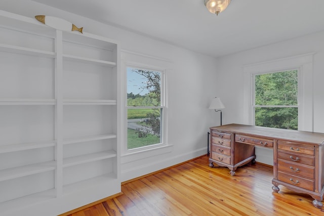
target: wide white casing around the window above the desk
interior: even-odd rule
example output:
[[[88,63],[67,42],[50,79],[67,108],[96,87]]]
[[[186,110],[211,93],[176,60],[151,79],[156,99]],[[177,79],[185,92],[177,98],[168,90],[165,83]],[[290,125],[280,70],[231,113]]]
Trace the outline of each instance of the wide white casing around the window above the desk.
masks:
[[[254,124],[254,75],[298,69],[298,129],[313,132],[313,55],[310,53],[243,66],[244,123]]]

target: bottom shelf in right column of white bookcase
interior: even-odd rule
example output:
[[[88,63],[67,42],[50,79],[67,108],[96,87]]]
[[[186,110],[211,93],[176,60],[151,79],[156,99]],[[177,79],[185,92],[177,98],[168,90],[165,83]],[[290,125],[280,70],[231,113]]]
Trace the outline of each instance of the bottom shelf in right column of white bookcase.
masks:
[[[87,179],[84,181],[76,182],[73,184],[63,186],[63,195],[73,194],[80,190],[89,188],[89,187],[96,187],[98,185],[107,184],[110,181],[116,180],[115,174],[110,173],[106,175],[102,175],[99,177]],[[120,185],[120,184],[119,184]]]

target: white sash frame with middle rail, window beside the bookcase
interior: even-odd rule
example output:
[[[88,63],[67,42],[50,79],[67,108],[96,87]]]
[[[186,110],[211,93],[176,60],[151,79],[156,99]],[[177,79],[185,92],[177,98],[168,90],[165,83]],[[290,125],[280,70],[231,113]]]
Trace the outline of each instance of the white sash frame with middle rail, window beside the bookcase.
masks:
[[[142,70],[149,70],[149,71],[156,71],[161,73],[161,99],[160,99],[160,106],[128,106],[127,105],[127,69],[128,68],[134,68],[134,69],[142,69]],[[123,154],[128,155],[128,154],[133,154],[133,153],[138,153],[138,152],[145,152],[148,150],[153,150],[157,148],[161,148],[164,146],[167,146],[167,129],[166,129],[166,121],[167,121],[167,115],[166,115],[166,74],[167,74],[167,69],[165,68],[160,68],[152,65],[145,65],[145,64],[140,64],[140,63],[134,63],[134,62],[125,62],[125,77],[126,77],[126,94],[123,96],[125,98],[125,142],[123,146]],[[160,139],[161,143],[158,144],[152,144],[148,146],[143,146],[139,148],[134,148],[134,149],[128,149],[128,133],[127,133],[127,113],[129,109],[160,109],[161,110],[161,116],[160,116]]]

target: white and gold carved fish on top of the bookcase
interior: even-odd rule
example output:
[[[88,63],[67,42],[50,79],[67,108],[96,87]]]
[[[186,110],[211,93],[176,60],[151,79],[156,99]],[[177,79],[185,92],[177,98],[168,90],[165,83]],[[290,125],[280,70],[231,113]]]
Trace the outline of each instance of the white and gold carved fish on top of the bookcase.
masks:
[[[37,15],[35,16],[35,19],[38,20],[41,23],[44,23],[45,25],[48,25],[52,28],[56,28],[62,31],[79,31],[83,33],[83,27],[78,28],[74,24],[63,20],[61,18],[57,17],[51,17],[51,16],[45,16],[45,15]]]

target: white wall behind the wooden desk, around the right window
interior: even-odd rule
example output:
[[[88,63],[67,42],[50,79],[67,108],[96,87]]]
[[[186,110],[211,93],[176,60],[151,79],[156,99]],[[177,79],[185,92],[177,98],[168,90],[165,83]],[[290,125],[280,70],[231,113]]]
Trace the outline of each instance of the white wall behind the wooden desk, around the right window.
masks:
[[[313,56],[313,128],[314,132],[324,133],[324,32],[306,35],[257,49],[236,53],[218,59],[217,91],[226,109],[223,121],[226,123],[245,122],[244,116],[244,72],[243,67],[249,64],[272,61],[308,53]],[[311,97],[311,96],[309,96]],[[256,149],[257,161],[272,164],[271,151]]]

